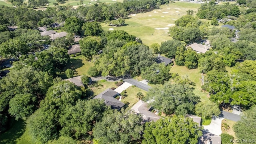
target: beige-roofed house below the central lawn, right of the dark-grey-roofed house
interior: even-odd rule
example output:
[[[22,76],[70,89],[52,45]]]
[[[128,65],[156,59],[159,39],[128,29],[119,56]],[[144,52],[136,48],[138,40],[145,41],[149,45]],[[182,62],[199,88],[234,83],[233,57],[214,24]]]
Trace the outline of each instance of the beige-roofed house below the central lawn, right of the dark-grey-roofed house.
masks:
[[[154,121],[156,122],[161,117],[151,112],[151,107],[142,100],[139,100],[132,108],[136,113],[142,114],[144,121]]]

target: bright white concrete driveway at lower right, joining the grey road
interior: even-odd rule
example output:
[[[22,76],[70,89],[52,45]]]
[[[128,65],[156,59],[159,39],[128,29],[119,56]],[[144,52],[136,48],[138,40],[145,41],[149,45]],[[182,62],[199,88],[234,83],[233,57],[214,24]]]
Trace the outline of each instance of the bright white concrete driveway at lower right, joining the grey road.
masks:
[[[218,118],[218,117],[215,120],[212,119],[212,122],[208,126],[203,126],[204,130],[219,136],[222,133],[222,131],[221,131],[221,121],[223,119],[224,118]]]

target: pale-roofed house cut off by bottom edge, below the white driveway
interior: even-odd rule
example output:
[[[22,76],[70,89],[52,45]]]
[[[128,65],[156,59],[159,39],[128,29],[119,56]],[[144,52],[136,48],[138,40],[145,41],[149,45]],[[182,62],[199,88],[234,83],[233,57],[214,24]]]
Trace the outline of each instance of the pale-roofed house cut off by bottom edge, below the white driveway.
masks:
[[[197,144],[221,144],[220,136],[210,132],[202,131],[203,135],[199,138]]]

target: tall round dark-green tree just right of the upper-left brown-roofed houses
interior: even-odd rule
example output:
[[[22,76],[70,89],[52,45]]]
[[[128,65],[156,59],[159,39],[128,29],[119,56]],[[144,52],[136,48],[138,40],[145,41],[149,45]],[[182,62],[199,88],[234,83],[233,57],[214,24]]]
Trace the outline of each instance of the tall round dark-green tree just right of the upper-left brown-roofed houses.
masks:
[[[82,30],[82,23],[76,17],[70,17],[65,20],[64,28],[66,32],[78,34]]]

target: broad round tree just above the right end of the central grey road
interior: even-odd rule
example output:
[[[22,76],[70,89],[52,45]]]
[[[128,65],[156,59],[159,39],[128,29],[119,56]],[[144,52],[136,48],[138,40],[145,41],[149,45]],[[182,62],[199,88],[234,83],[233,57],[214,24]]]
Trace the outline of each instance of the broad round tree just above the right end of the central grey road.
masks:
[[[169,71],[170,67],[165,66],[164,63],[154,63],[150,67],[142,71],[141,76],[152,84],[164,84],[164,82],[168,81],[171,78]]]

